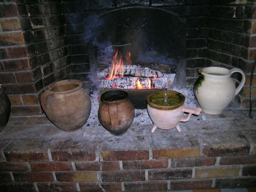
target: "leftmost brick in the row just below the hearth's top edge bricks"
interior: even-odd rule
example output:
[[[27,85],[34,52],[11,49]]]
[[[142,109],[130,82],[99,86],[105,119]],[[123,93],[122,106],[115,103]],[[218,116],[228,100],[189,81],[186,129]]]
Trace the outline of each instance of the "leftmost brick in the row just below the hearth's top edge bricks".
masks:
[[[0,171],[26,171],[26,162],[0,162]]]

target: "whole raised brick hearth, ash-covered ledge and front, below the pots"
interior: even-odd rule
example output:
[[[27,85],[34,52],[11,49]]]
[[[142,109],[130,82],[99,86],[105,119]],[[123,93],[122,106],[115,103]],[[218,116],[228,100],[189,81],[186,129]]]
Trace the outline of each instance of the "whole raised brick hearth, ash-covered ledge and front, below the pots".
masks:
[[[182,132],[88,122],[64,132],[45,115],[11,116],[0,135],[1,191],[121,192],[256,187],[256,122],[234,102]],[[206,117],[206,120],[202,119]]]

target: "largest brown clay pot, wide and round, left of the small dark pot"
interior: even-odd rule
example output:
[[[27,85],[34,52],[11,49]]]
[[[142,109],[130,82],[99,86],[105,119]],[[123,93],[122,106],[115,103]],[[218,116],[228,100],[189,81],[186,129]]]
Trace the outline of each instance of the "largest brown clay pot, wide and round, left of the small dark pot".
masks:
[[[50,84],[40,98],[46,116],[61,130],[76,131],[90,115],[91,100],[78,80]]]

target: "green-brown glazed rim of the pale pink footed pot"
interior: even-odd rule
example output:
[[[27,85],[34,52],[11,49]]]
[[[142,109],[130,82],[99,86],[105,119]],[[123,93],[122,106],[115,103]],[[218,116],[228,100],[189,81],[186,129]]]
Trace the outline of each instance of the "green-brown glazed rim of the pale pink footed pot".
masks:
[[[153,102],[151,102],[153,99],[160,98],[160,97],[168,97],[168,98],[174,98],[179,100],[177,104],[174,105],[157,105]],[[170,91],[170,90],[162,90],[162,91],[156,91],[151,94],[149,94],[146,98],[147,103],[152,107],[160,110],[173,110],[176,108],[179,108],[182,106],[185,102],[185,96],[181,94],[180,92],[176,91]]]

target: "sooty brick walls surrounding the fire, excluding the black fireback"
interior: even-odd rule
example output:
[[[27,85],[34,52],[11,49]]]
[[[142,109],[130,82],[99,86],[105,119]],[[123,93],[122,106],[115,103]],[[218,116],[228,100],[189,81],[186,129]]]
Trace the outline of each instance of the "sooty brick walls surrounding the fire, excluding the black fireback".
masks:
[[[160,7],[186,18],[187,85],[194,85],[200,68],[241,68],[247,80],[236,102],[249,107],[250,72],[256,54],[254,0],[7,0],[0,2],[0,83],[10,97],[11,114],[42,114],[40,94],[57,80],[78,79],[88,90],[84,16],[129,5]],[[240,76],[234,78],[239,82]],[[252,90],[255,107],[255,77]]]

